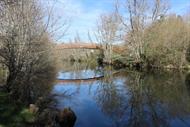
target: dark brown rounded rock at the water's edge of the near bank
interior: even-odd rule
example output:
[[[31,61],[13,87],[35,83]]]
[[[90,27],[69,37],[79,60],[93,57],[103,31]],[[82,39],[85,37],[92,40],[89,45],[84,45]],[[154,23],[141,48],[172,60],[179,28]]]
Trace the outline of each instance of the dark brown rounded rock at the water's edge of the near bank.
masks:
[[[70,108],[65,108],[59,113],[59,124],[61,127],[74,127],[77,117]]]

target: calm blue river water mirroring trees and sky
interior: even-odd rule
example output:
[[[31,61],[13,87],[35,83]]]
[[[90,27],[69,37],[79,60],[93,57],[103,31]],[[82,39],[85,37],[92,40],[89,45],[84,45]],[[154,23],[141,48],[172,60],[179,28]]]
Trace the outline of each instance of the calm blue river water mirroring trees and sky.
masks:
[[[80,78],[89,79],[73,80]],[[190,126],[187,73],[110,71],[69,64],[60,69],[58,79],[52,91],[58,95],[57,108],[71,107],[77,115],[75,127]]]

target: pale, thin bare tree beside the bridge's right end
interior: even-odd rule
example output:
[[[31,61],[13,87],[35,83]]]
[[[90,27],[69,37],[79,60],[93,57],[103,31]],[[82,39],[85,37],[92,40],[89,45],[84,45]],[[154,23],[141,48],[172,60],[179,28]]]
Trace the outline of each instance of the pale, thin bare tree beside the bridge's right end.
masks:
[[[101,15],[97,23],[96,38],[102,45],[104,62],[112,64],[113,45],[120,40],[121,17],[118,13],[118,4],[115,11]]]

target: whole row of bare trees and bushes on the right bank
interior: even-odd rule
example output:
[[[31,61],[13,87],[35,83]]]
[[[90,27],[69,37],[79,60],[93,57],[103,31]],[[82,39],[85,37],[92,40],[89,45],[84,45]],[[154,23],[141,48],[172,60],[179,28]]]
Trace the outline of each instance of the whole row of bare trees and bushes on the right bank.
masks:
[[[95,36],[103,47],[104,62],[140,68],[189,68],[190,24],[169,13],[165,0],[115,2],[115,10],[100,16]],[[113,52],[120,45],[121,53]]]

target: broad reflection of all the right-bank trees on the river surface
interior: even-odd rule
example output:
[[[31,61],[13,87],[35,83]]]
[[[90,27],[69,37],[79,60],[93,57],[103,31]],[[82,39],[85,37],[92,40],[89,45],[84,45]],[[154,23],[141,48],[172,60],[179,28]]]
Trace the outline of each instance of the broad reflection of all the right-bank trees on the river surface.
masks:
[[[190,126],[189,77],[180,73],[109,75],[97,89],[96,100],[114,126],[160,127],[183,123]],[[186,87],[187,86],[187,87]]]

